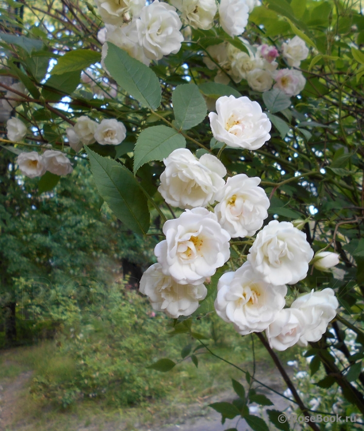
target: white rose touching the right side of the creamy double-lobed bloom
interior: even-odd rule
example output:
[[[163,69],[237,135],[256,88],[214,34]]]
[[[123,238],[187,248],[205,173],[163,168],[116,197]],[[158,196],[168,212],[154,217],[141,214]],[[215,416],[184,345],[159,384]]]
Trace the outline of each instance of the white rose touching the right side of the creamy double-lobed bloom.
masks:
[[[216,194],[219,204],[215,214],[221,226],[232,238],[251,237],[268,217],[269,199],[258,187],[260,178],[249,178],[244,173],[228,178]]]

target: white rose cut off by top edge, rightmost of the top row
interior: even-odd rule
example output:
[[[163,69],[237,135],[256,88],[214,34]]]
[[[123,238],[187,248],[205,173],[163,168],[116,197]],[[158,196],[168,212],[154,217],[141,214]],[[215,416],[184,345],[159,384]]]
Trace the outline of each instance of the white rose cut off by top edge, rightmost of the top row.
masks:
[[[249,8],[245,0],[221,0],[219,16],[225,33],[234,37],[244,32],[248,24]]]

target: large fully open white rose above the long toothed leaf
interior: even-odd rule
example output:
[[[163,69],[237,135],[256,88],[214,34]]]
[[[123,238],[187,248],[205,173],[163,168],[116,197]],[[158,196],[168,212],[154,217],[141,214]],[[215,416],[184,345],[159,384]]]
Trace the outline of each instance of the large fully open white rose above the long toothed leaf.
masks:
[[[167,3],[154,0],[144,6],[136,20],[139,45],[151,60],[160,60],[164,55],[176,54],[181,49],[182,22],[176,9]]]

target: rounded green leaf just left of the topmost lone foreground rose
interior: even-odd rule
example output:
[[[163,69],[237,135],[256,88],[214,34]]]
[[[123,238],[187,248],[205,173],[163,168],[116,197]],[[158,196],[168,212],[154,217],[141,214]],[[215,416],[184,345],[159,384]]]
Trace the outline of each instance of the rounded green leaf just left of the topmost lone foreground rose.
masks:
[[[172,93],[172,104],[176,126],[180,130],[191,129],[206,117],[206,102],[195,84],[177,86]]]

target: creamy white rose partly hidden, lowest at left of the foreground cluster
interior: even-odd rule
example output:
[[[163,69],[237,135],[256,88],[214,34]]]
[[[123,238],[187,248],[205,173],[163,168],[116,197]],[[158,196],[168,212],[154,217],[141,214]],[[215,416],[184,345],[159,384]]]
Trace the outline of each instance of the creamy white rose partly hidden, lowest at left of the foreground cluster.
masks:
[[[179,284],[171,276],[166,276],[159,263],[151,265],[143,274],[139,290],[149,296],[154,310],[164,311],[173,319],[192,314],[207,294],[204,284]]]

